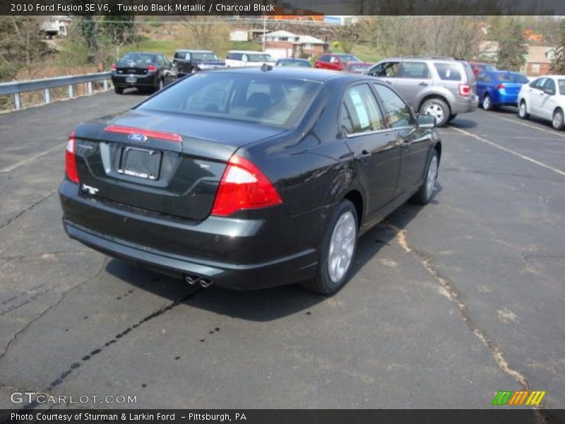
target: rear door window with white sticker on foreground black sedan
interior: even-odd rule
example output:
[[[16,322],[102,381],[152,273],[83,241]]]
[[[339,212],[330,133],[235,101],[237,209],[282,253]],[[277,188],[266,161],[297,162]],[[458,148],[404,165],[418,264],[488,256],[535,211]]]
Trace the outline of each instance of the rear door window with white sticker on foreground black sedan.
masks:
[[[340,112],[340,127],[345,134],[385,129],[376,98],[367,84],[347,88]]]

